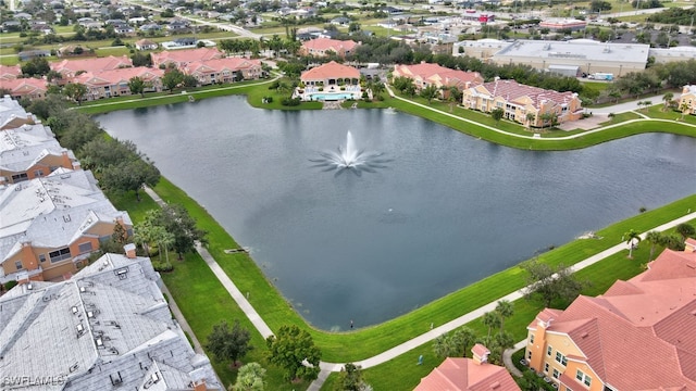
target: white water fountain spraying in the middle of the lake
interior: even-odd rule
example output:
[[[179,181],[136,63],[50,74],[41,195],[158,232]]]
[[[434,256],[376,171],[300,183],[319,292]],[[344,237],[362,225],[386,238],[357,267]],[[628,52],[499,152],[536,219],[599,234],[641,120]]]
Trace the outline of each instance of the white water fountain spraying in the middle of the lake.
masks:
[[[325,167],[324,171],[336,171],[336,175],[350,171],[360,176],[362,172],[374,173],[375,168],[385,168],[388,159],[381,159],[378,152],[365,152],[358,150],[352,134],[348,130],[346,135],[346,147],[338,146],[337,152],[319,152],[320,159],[310,159],[316,163],[314,167]]]

